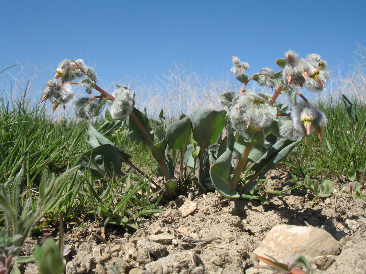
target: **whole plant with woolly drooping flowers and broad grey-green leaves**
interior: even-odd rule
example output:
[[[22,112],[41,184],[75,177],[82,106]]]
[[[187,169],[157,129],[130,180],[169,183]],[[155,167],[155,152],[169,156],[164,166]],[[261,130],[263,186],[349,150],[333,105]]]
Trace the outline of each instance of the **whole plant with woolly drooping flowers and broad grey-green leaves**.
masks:
[[[108,101],[110,107],[105,110],[108,121],[123,121],[128,117],[129,136],[145,142],[150,148],[169,198],[182,194],[187,187],[184,185],[186,180],[183,180],[184,163],[194,170],[197,167],[196,184],[203,192],[213,187],[225,197],[238,198],[249,193],[268,170],[295,148],[302,137],[306,139],[311,132],[316,132],[320,138],[321,129],[327,123],[325,114],[315,109],[298,90],[298,86],[315,92],[324,90],[329,78],[326,62],[318,54],[310,54],[305,59],[297,57],[296,53],[289,51],[285,53],[285,59],[276,60],[276,64],[284,68],[283,71],[273,73],[272,69],[265,68],[250,78],[245,74],[249,64],[232,57],[231,72],[243,83],[239,95],[226,92],[221,95],[223,110],[196,107],[191,117],[182,114],[175,122],[165,117],[163,110],[158,119],[148,119],[135,108],[135,94],[131,94],[128,87],[115,84],[116,90],[112,94],[103,90],[97,85],[94,70],[80,59],[60,62],[55,79],[50,80],[44,89],[41,103],[51,100],[55,111],[60,104],[71,99],[71,85],[85,87],[87,94],[96,90],[99,95],[82,98],[75,104],[76,115],[90,119],[98,115]],[[179,71],[171,75],[174,78],[168,83],[178,94],[182,90],[193,92],[189,85],[183,86],[190,81],[181,81]],[[84,79],[75,82],[78,77]],[[268,96],[247,90],[246,85],[251,80],[269,86],[274,94]],[[292,106],[290,112],[287,105],[276,103],[281,93],[288,94]],[[179,97],[181,95],[175,96]],[[89,138],[93,149],[85,155],[87,159],[83,165],[93,165],[94,174],[97,172],[101,177],[107,173],[109,176],[111,173],[120,174],[122,162],[143,173],[131,163],[130,155],[120,151],[100,133],[91,130]],[[180,152],[178,178],[175,176],[176,162],[173,163],[169,153],[174,150]],[[159,188],[156,184],[156,190]]]

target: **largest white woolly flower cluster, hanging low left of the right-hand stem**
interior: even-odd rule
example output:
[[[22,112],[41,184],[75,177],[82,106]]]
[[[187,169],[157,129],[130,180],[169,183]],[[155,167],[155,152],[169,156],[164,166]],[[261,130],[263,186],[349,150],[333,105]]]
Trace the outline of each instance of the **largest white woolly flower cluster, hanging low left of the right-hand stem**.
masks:
[[[263,95],[250,91],[238,99],[230,114],[231,121],[241,129],[242,123],[239,117],[246,122],[246,128],[249,125],[263,128],[272,123],[276,118],[276,112]]]

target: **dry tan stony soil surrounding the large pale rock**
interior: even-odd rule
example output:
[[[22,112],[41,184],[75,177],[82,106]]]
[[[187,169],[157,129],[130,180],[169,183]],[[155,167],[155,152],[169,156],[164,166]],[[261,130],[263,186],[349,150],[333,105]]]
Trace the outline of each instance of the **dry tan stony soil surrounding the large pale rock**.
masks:
[[[269,190],[291,187],[286,173],[272,170],[269,176]],[[349,190],[350,182],[340,183]],[[187,197],[178,197],[160,207],[163,213],[144,220],[138,231],[115,226],[104,229],[89,222],[77,232],[66,231],[66,273],[269,273],[251,269],[258,265],[253,251],[276,224],[321,228],[343,244],[340,255],[326,270],[312,264],[311,273],[366,273],[366,202],[335,189],[332,197],[318,199],[314,206],[310,205],[313,194],[301,189],[282,197],[269,194],[265,206],[257,201],[228,201],[217,192],[198,194],[193,199],[197,209],[187,217],[179,210]],[[172,237],[150,241],[163,234]],[[29,254],[41,240],[28,238],[23,254]],[[176,258],[175,265],[167,261],[165,266],[163,262],[159,267],[146,266],[174,254],[183,256]],[[37,273],[34,264],[21,268],[23,273]]]

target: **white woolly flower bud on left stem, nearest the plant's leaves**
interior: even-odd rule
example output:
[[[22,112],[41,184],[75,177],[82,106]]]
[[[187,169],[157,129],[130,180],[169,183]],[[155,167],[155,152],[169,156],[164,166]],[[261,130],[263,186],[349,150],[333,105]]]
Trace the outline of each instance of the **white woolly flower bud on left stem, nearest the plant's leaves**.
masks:
[[[124,120],[132,112],[135,101],[128,88],[119,88],[113,92],[116,99],[111,104],[111,117],[115,120]]]

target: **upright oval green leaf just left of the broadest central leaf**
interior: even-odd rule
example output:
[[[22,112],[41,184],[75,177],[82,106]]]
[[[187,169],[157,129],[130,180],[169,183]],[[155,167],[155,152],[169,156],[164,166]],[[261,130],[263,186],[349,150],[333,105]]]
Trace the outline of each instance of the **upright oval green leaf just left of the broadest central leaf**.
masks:
[[[191,134],[191,119],[184,117],[167,126],[165,139],[171,149],[186,149]]]

